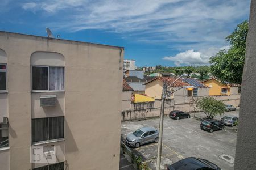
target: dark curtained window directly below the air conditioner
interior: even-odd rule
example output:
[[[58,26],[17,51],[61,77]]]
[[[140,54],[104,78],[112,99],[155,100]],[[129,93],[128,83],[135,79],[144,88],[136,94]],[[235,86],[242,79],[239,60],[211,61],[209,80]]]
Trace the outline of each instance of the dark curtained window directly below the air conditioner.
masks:
[[[32,119],[32,142],[64,138],[64,116]]]

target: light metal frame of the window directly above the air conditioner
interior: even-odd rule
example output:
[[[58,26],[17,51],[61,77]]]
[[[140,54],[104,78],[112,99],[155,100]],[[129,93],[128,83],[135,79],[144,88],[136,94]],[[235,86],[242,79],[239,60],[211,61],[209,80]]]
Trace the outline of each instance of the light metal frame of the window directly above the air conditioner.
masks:
[[[47,67],[48,68],[48,90],[33,90],[33,67]],[[64,84],[63,90],[49,90],[49,67],[60,67],[64,68]],[[31,65],[31,92],[64,92],[65,91],[65,67],[64,66],[43,66],[43,65]]]

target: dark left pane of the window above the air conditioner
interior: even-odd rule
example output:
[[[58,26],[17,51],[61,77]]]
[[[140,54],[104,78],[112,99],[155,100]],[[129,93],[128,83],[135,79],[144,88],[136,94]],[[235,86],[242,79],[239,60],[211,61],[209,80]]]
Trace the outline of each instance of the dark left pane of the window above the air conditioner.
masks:
[[[48,90],[48,67],[32,67],[32,90]]]

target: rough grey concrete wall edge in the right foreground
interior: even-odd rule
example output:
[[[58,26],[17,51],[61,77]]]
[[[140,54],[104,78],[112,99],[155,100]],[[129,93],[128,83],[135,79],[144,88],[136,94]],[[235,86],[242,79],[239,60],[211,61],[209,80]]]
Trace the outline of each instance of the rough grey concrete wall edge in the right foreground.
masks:
[[[249,32],[246,40],[245,67],[234,169],[256,169],[256,1],[251,1]]]

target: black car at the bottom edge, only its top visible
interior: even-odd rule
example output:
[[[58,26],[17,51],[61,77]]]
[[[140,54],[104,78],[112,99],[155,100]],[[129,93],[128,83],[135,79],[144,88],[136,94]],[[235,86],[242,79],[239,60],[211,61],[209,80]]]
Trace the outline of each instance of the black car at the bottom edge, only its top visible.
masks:
[[[189,157],[171,164],[167,170],[221,170],[216,164],[209,162],[206,159]]]

